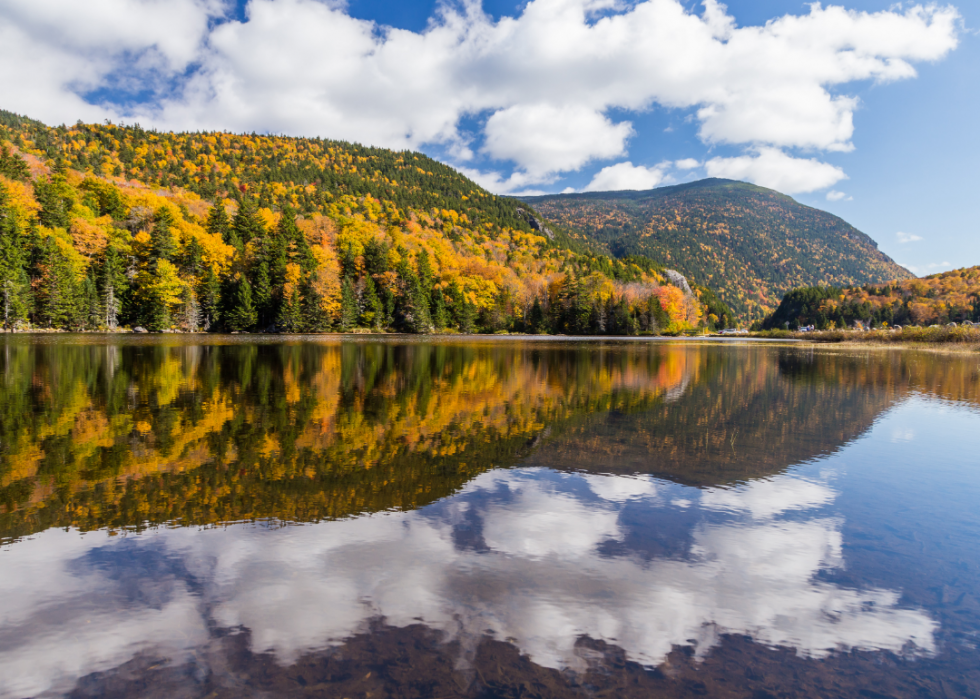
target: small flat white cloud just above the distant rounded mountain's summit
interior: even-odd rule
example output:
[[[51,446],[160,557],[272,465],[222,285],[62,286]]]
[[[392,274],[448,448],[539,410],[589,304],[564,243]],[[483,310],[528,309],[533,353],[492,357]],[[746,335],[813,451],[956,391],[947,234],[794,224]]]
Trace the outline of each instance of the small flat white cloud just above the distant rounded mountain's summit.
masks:
[[[712,158],[704,169],[709,177],[747,180],[784,194],[812,192],[847,179],[839,167],[813,158],[793,158],[775,148],[760,148],[752,155],[734,158]]]

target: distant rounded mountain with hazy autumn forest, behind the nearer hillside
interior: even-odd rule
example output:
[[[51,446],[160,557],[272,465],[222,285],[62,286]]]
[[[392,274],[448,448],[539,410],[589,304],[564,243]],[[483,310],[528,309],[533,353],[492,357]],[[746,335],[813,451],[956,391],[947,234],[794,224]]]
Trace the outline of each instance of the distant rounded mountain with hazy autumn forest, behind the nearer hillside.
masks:
[[[646,255],[693,276],[749,318],[794,287],[912,277],[844,220],[744,182],[524,200],[614,256]]]

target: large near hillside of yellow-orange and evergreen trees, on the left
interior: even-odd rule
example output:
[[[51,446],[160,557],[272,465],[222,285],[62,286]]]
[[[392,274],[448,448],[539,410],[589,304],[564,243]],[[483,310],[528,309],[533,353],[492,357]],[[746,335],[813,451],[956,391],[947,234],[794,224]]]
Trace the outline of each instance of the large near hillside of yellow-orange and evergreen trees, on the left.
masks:
[[[705,287],[411,152],[0,111],[7,329],[679,332]]]

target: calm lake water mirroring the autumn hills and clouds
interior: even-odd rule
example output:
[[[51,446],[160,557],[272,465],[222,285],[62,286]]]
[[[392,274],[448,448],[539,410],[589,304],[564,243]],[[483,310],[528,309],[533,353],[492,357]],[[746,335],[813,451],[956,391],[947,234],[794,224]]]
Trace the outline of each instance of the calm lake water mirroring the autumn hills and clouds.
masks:
[[[0,340],[0,698],[978,697],[980,356]]]

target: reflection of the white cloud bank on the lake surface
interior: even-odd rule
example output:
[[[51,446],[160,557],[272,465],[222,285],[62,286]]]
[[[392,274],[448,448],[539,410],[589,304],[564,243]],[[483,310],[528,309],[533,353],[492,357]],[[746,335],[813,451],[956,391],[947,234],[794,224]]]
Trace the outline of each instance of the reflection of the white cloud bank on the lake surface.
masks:
[[[818,579],[842,565],[840,520],[826,512],[834,496],[785,475],[699,493],[498,470],[415,512],[115,540],[51,531],[5,552],[39,584],[3,583],[0,676],[8,696],[65,690],[138,652],[187,662],[228,629],[248,629],[253,653],[291,664],[375,618],[438,629],[463,662],[489,633],[537,665],[578,671],[589,663],[581,636],[649,666],[675,645],[706,655],[731,633],[812,657],[934,652],[935,622],[899,608],[896,591]],[[622,546],[644,537],[630,531],[630,508],[669,511],[678,499],[690,501],[686,550],[650,560]],[[783,518],[789,510],[802,516]]]

